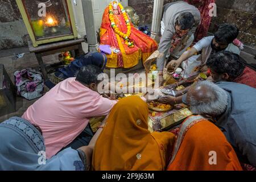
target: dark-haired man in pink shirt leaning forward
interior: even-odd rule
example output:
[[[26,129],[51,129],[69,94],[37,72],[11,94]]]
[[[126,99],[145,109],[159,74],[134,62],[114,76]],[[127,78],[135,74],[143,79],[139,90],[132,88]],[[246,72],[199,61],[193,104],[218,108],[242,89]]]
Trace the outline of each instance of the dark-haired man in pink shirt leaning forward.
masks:
[[[88,145],[93,135],[89,119],[108,115],[117,102],[97,92],[100,73],[95,65],[83,67],[76,78],[61,81],[22,115],[42,130],[47,159],[64,147]]]

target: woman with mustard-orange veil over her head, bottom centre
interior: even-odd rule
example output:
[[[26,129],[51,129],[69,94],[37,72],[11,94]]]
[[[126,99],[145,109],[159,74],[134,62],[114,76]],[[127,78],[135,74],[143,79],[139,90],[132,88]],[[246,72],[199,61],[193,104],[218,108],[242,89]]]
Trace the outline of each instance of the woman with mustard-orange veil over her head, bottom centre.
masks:
[[[94,170],[164,170],[175,135],[148,131],[148,107],[138,96],[122,98],[110,111],[93,152]]]

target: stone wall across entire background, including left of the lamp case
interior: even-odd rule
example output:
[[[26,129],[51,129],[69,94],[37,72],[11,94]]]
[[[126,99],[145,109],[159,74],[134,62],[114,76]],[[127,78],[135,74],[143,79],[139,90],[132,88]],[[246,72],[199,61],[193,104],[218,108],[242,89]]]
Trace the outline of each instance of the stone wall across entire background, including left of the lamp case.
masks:
[[[98,0],[101,1],[101,0]],[[164,0],[164,3],[176,0]],[[154,0],[129,0],[140,17],[141,25],[152,22]],[[218,24],[236,23],[238,38],[247,46],[256,48],[256,0],[216,0],[217,17],[212,19],[209,32]],[[27,30],[15,0],[0,0],[0,50],[26,46]]]

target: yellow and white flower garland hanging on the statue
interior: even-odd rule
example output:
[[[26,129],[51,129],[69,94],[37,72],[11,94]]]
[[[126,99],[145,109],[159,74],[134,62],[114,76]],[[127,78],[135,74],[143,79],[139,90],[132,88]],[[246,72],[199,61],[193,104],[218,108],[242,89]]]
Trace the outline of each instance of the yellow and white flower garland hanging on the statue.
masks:
[[[121,3],[118,3],[118,6],[121,9],[121,13],[123,15],[123,18],[125,19],[125,23],[126,23],[126,27],[127,27],[127,32],[123,33],[121,32],[117,25],[115,24],[115,20],[114,20],[114,12],[113,12],[113,6],[112,6],[112,2],[109,3],[109,20],[111,22],[111,26],[115,31],[115,34],[118,34],[119,36],[121,36],[124,40],[125,40],[125,44],[130,47],[133,48],[134,47],[134,43],[130,42],[129,36],[131,35],[131,24],[130,24],[130,20],[127,17],[127,14],[125,12],[125,9],[123,9],[123,6],[121,5]]]

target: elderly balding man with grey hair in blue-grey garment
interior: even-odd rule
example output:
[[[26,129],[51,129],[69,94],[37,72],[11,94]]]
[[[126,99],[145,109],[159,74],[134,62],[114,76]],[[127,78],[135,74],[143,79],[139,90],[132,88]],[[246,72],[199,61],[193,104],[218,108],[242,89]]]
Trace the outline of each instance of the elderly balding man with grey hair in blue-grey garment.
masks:
[[[256,89],[234,82],[202,81],[183,96],[191,111],[210,117],[241,163],[256,166]]]

